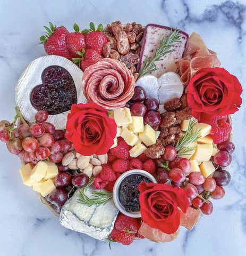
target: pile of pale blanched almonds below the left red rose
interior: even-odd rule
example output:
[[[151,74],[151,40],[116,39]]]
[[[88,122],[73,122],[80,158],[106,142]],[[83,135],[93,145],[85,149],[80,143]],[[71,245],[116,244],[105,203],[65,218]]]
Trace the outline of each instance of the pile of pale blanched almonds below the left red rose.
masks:
[[[71,170],[78,170],[84,174],[87,174],[90,178],[93,174],[94,176],[98,175],[101,170],[102,164],[108,162],[108,155],[91,155],[91,156],[82,156],[77,153],[75,150],[71,150],[62,159],[62,164],[69,167]]]

